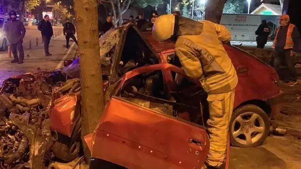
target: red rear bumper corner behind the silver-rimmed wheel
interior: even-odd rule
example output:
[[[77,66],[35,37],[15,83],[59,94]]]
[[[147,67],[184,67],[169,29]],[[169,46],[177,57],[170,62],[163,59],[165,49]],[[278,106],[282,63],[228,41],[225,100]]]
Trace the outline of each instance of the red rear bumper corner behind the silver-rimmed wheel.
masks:
[[[271,106],[270,119],[275,119],[280,114],[280,110],[284,104],[283,91],[280,90],[280,92],[277,95],[274,95],[266,99],[265,101]]]

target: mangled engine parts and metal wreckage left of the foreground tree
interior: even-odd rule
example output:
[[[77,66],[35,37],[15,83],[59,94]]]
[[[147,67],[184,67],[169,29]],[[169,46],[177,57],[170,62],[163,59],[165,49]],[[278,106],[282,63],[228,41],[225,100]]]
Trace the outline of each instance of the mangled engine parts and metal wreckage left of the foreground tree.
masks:
[[[4,81],[0,90],[0,168],[42,168],[55,156],[73,160],[64,158],[70,156],[70,142],[51,139],[50,127],[53,100],[80,88],[79,78],[69,78],[58,70],[25,73]],[[79,143],[76,147],[74,159]],[[64,148],[68,153],[62,155]]]

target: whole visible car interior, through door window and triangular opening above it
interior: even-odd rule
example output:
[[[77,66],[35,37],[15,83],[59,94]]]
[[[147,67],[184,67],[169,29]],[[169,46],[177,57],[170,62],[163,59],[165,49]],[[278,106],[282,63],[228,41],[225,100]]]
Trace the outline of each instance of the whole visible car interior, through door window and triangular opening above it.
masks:
[[[141,36],[133,27],[129,27],[123,43],[118,76],[135,68],[160,63],[158,56],[149,49]],[[169,63],[181,67],[175,54],[170,56]],[[177,73],[172,72],[174,80]],[[201,109],[203,105],[202,87],[188,78],[178,81],[175,91],[169,92],[165,84],[162,70],[140,73],[128,79],[119,96],[132,103],[144,106],[164,114],[204,125]]]

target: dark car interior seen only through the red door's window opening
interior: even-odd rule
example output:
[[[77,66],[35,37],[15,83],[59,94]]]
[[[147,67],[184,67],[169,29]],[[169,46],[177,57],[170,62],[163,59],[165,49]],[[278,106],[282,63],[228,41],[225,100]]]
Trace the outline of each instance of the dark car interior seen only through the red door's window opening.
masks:
[[[204,93],[200,86],[182,78],[173,92],[166,89],[162,70],[138,74],[128,79],[120,91],[121,98],[173,117],[204,125]],[[206,97],[205,97],[206,99]]]

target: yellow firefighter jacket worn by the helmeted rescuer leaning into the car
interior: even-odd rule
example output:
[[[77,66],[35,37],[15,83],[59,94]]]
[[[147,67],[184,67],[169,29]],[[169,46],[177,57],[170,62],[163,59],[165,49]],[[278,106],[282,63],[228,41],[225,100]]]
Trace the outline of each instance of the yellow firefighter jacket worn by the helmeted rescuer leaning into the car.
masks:
[[[230,41],[231,33],[223,25],[208,20],[200,22],[200,34],[184,34],[177,39],[175,50],[182,68],[189,76],[198,78],[208,93],[231,91],[236,87],[238,78],[223,47],[223,42]]]

